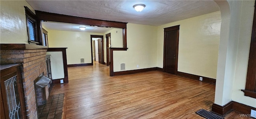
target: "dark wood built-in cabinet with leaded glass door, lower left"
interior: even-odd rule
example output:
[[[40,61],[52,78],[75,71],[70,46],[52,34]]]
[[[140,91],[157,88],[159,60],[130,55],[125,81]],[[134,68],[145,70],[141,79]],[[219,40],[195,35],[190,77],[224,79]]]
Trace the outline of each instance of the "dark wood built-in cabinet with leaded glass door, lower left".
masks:
[[[1,65],[1,119],[26,119],[20,64]]]

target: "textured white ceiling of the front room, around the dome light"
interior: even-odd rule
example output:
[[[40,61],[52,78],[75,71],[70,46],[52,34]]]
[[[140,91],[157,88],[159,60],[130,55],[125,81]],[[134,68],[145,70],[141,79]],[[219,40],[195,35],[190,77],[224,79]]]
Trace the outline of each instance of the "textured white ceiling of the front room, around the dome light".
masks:
[[[212,0],[27,0],[35,10],[121,21],[144,25],[163,25],[219,10]],[[136,12],[134,4],[145,4]]]

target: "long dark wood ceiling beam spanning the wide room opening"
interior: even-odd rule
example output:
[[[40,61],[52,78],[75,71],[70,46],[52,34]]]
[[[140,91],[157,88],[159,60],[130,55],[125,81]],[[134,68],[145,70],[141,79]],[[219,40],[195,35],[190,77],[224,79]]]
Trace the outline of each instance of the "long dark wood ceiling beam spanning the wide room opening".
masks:
[[[64,22],[64,23],[76,23],[76,24],[84,24],[84,25],[96,25],[100,27],[117,27],[117,28],[126,28],[126,24],[124,22],[118,21],[106,21],[106,20],[97,20],[91,18],[82,18],[76,16],[68,16],[63,14],[55,14],[50,12],[42,12],[35,10],[36,16],[39,20],[44,21],[56,21],[56,22]]]

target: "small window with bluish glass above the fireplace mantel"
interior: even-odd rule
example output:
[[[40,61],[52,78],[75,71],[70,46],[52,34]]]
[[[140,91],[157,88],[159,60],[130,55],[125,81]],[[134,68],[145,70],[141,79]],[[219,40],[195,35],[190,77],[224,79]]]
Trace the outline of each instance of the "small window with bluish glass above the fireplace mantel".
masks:
[[[27,29],[28,29],[28,43],[40,45],[37,36],[37,28],[36,28],[36,15],[25,6],[26,20],[27,20]]]

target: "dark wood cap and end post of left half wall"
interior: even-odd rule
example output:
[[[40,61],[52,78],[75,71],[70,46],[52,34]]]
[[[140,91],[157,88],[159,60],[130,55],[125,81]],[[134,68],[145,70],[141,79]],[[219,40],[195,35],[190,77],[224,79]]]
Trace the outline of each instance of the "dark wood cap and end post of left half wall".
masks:
[[[68,64],[67,64],[67,53],[66,53],[66,47],[62,48],[48,48],[47,52],[56,52],[61,51],[62,52],[62,59],[63,59],[63,68],[64,68],[64,83],[68,83]]]

